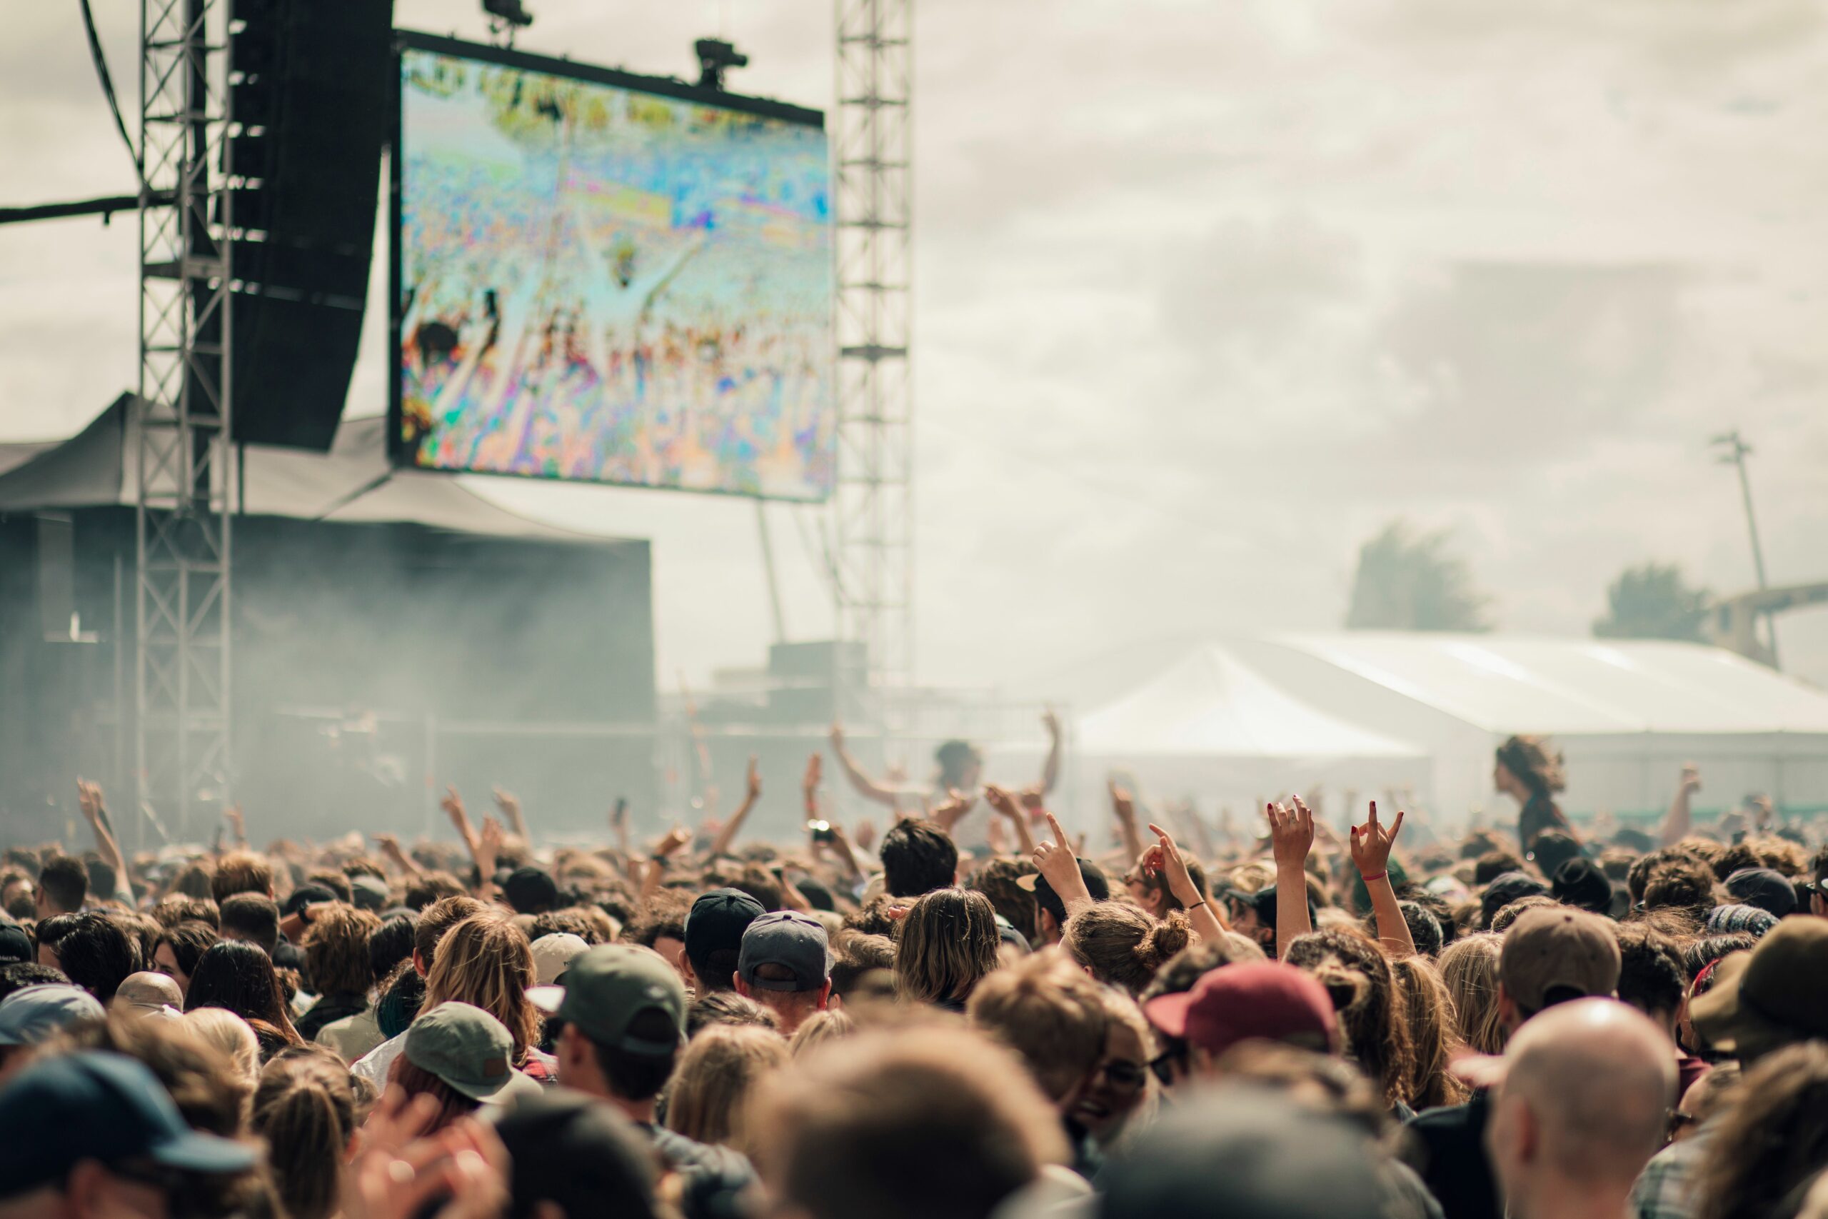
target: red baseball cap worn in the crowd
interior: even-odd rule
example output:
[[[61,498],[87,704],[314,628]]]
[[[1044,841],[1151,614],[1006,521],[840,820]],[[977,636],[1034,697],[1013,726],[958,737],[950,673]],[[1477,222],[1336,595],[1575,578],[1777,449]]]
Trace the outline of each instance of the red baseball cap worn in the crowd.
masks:
[[[1327,989],[1281,961],[1221,965],[1201,974],[1185,994],[1150,1000],[1142,1012],[1168,1036],[1186,1038],[1212,1055],[1250,1038],[1325,1053],[1340,1047]]]

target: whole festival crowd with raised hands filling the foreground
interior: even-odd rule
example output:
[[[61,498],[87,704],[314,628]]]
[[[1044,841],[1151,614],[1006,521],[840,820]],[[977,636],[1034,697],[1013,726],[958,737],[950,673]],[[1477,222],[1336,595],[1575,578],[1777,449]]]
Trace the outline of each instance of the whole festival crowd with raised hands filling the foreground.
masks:
[[[79,782],[93,850],[0,872],[0,1219],[1828,1219],[1828,850],[1693,768],[1653,830],[1521,737],[1515,833],[1113,786],[1075,839],[1057,757],[832,746],[883,828],[815,755],[792,844],[751,764],[645,846],[452,791],[128,859]]]

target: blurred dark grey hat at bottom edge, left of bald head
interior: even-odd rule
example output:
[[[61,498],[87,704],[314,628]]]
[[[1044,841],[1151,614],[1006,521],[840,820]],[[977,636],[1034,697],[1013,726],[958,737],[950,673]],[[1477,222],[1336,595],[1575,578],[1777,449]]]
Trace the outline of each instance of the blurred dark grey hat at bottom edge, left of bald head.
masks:
[[[1093,1214],[1376,1219],[1386,1190],[1369,1142],[1280,1091],[1227,1084],[1164,1109],[1148,1139],[1113,1155]]]

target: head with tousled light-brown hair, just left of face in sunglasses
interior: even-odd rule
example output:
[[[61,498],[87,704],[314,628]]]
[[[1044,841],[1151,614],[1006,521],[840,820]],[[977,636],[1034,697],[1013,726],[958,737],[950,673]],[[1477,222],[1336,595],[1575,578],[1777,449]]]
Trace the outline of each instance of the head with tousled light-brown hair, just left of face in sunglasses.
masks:
[[[1069,1113],[1091,1086],[1110,1033],[1099,983],[1060,950],[1000,969],[971,994],[972,1027],[1013,1049],[1047,1098]]]

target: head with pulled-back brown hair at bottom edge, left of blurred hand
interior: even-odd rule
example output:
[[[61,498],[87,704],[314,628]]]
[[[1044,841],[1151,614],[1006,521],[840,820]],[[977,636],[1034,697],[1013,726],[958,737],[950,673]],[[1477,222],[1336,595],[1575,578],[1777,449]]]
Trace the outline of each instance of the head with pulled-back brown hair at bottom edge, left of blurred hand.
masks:
[[[267,1170],[287,1219],[336,1214],[355,1122],[355,1087],[335,1055],[285,1053],[260,1073],[252,1129],[267,1140]]]

